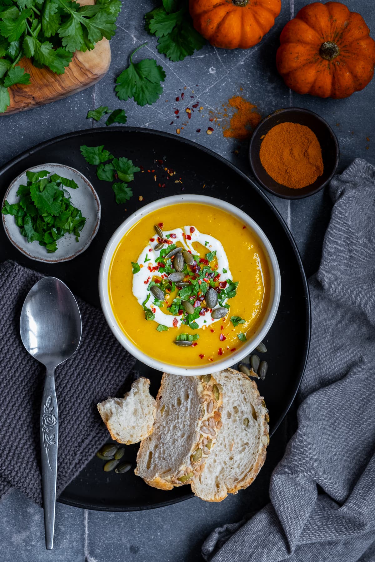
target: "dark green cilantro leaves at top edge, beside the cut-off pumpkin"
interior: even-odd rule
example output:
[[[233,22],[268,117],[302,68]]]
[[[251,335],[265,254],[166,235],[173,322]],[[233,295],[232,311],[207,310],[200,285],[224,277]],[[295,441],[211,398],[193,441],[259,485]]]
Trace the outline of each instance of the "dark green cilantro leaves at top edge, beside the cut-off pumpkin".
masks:
[[[162,0],[162,6],[146,13],[144,19],[146,31],[158,38],[159,53],[173,62],[193,55],[206,43],[193,28],[188,0]]]

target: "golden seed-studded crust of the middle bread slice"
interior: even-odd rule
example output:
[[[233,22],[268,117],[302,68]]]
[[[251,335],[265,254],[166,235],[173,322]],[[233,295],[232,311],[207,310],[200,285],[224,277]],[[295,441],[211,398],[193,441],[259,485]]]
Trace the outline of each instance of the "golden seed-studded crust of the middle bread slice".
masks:
[[[160,414],[161,408],[161,398],[164,393],[164,382],[166,377],[170,377],[168,373],[164,373],[161,379],[161,385],[159,388],[159,392],[157,393],[156,397],[156,416],[155,416],[155,426],[158,423],[158,416]],[[221,409],[222,409],[222,401],[223,396],[221,392],[221,386],[216,382],[216,379],[212,375],[204,375],[200,378],[192,377],[197,380],[197,392],[198,396],[201,399],[201,415],[197,420],[197,428],[196,428],[196,440],[193,442],[191,450],[189,452],[188,458],[189,462],[179,466],[177,469],[174,470],[172,474],[169,474],[168,477],[161,477],[159,474],[152,479],[148,479],[144,475],[142,475],[141,470],[138,470],[138,464],[143,455],[147,454],[148,450],[148,442],[142,441],[141,446],[139,447],[138,455],[137,455],[137,467],[134,470],[134,473],[138,476],[143,478],[144,482],[146,482],[149,486],[153,488],[160,488],[160,490],[171,490],[175,486],[183,486],[183,484],[188,484],[189,480],[193,478],[193,476],[198,476],[204,469],[204,463],[207,457],[210,454],[210,448],[205,446],[207,442],[207,437],[211,441],[210,447],[213,447],[218,431],[222,425],[221,422]],[[218,395],[219,393],[219,395]],[[215,420],[215,428],[214,435],[205,432],[205,424],[209,423],[208,420],[213,418]],[[211,424],[213,422],[210,422]],[[157,430],[156,430],[157,432]],[[195,459],[193,454],[198,450],[201,449],[200,456]],[[197,455],[198,456],[198,455]]]

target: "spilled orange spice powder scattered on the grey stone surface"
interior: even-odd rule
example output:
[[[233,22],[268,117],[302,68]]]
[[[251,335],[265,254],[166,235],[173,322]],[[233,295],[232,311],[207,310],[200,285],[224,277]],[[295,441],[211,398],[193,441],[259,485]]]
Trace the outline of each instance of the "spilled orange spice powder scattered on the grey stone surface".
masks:
[[[215,123],[222,126],[224,137],[245,140],[251,137],[261,120],[261,115],[256,109],[256,105],[242,96],[233,96],[223,104],[223,111],[210,111],[210,114],[213,115]]]

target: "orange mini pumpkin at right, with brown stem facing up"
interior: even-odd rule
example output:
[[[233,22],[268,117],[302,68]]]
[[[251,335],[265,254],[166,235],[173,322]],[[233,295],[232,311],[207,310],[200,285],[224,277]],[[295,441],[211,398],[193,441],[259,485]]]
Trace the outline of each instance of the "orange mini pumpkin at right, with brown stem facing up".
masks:
[[[375,41],[363,17],[340,2],[314,2],[280,35],[277,70],[299,94],[346,98],[374,74]]]

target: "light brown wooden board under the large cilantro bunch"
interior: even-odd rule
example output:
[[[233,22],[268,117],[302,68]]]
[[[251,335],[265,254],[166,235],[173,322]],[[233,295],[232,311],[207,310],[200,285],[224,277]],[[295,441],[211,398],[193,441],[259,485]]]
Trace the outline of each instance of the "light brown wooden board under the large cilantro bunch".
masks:
[[[80,4],[93,4],[92,0],[81,0]],[[37,69],[29,58],[21,58],[19,65],[30,74],[31,84],[15,84],[10,88],[9,115],[33,107],[66,98],[92,86],[103,78],[111,63],[111,48],[107,39],[102,39],[92,51],[76,51],[65,74],[57,75],[48,68]]]

